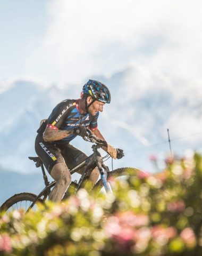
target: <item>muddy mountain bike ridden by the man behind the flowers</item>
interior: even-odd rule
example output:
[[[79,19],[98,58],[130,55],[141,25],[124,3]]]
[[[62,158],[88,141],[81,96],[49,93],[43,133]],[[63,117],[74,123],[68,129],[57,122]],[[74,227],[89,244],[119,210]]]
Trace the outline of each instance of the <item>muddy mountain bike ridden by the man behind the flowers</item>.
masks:
[[[123,167],[110,171],[108,166],[106,166],[104,162],[111,156],[107,154],[106,156],[102,157],[98,151],[98,149],[101,147],[107,147],[107,142],[97,138],[95,135],[92,134],[90,130],[88,130],[88,135],[86,137],[83,137],[83,139],[94,143],[94,145],[92,145],[93,153],[92,155],[87,157],[85,161],[70,170],[70,173],[73,174],[75,172],[78,172],[83,166],[85,166],[85,171],[82,173],[79,181],[72,181],[70,183],[70,186],[66,190],[62,200],[67,199],[72,194],[72,190],[73,193],[77,193],[78,189],[85,185],[85,182],[88,180],[90,173],[92,172],[92,170],[95,169],[95,167],[97,167],[99,170],[100,179],[97,181],[92,189],[101,190],[102,187],[104,187],[106,193],[112,193],[112,188],[110,185],[110,180],[112,178],[123,177],[126,175],[137,175],[137,172],[140,172],[140,170],[131,167]],[[48,181],[41,159],[39,157],[29,157],[29,159],[36,163],[36,167],[41,167],[45,188],[40,191],[38,195],[32,193],[15,194],[2,204],[2,206],[0,207],[0,211],[10,211],[14,209],[19,210],[23,208],[27,212],[30,209],[34,209],[37,202],[45,203],[46,199],[51,193],[51,189],[55,186],[56,181],[52,181],[51,183]]]

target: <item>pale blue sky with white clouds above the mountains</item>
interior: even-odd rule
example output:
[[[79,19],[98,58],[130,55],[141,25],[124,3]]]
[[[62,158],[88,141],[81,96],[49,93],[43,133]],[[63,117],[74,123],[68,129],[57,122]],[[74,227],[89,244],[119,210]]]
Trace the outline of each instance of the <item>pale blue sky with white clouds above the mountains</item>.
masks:
[[[0,92],[19,79],[44,87],[81,87],[88,78],[110,80],[131,68],[124,77],[124,99],[114,100],[124,103],[144,98],[153,89],[159,95],[166,91],[176,111],[162,131],[174,127],[174,138],[182,131],[198,133],[201,10],[200,0],[0,0]],[[149,113],[141,114],[152,124]],[[148,125],[140,125],[145,131],[138,135],[135,120],[131,123],[146,145],[141,133]]]

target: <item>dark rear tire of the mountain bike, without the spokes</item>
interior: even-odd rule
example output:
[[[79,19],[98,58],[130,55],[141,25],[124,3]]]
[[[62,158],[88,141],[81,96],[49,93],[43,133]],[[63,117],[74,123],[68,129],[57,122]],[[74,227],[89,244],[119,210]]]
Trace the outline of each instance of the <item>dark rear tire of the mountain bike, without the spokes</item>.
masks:
[[[0,207],[0,211],[7,211],[9,210],[11,207],[12,209],[16,209],[16,210],[20,210],[22,208],[24,208],[24,204],[22,204],[23,201],[26,202],[30,202],[31,203],[35,202],[37,198],[37,195],[32,194],[32,193],[20,193],[20,194],[15,194],[14,196],[11,196],[9,199],[7,199]],[[43,203],[43,200],[41,200],[40,198],[38,199],[37,202]],[[20,206],[18,206],[18,203],[20,203]],[[16,207],[13,207],[16,204]],[[29,206],[30,206],[29,205]],[[28,208],[29,208],[28,206]],[[26,211],[28,209],[25,209]]]

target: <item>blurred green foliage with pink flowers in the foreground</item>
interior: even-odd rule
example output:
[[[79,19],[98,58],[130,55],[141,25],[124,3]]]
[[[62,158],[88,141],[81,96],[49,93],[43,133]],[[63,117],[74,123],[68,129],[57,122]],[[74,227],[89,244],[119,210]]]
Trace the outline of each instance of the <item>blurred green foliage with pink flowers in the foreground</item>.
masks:
[[[202,157],[0,219],[0,255],[202,255]]]

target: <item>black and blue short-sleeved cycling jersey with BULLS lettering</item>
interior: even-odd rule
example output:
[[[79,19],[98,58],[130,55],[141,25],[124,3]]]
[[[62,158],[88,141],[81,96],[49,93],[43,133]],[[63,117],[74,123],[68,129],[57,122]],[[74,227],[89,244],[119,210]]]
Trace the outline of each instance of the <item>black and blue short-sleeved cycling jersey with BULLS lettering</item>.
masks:
[[[42,134],[47,127],[55,129],[55,130],[73,130],[75,127],[89,126],[91,130],[97,128],[97,118],[99,116],[99,111],[95,116],[91,114],[85,113],[81,114],[79,111],[77,100],[64,100],[53,109],[51,115],[48,117],[45,122],[46,125],[40,127],[37,131]],[[41,125],[42,126],[42,125]],[[61,140],[54,141],[57,145],[63,145],[64,143],[69,143],[73,140],[77,135],[70,134],[68,137],[65,137]]]

